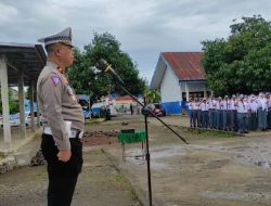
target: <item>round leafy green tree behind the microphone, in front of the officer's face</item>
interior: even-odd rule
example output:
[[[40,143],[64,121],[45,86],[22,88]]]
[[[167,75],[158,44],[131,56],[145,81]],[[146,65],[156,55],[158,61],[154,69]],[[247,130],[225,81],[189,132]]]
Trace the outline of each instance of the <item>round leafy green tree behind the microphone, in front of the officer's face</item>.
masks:
[[[91,43],[82,52],[75,51],[75,64],[68,72],[68,77],[77,93],[91,95],[92,101],[107,95],[111,92],[124,94],[117,89],[116,80],[109,75],[95,74],[93,69],[98,61],[105,59],[126,82],[126,88],[132,93],[143,93],[145,81],[139,77],[137,64],[120,50],[120,43],[108,33],[102,35],[94,33]]]

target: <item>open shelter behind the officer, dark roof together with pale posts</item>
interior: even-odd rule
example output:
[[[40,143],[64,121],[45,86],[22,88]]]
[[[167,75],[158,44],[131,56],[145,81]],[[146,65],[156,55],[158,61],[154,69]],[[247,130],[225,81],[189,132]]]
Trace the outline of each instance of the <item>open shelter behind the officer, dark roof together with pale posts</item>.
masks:
[[[18,87],[21,137],[26,137],[24,86],[31,88],[31,131],[34,130],[34,90],[40,72],[46,65],[46,52],[41,44],[0,42],[0,83],[3,113],[3,145],[11,149],[11,127],[9,123],[8,87]]]

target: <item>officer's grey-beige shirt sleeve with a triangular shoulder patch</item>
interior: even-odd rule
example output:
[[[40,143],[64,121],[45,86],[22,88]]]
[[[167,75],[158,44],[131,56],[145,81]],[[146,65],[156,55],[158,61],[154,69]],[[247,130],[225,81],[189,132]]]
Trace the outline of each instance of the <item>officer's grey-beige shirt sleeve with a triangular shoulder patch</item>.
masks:
[[[62,96],[64,83],[60,76],[51,75],[44,79],[41,88],[44,113],[59,150],[70,150],[68,132],[62,116]]]

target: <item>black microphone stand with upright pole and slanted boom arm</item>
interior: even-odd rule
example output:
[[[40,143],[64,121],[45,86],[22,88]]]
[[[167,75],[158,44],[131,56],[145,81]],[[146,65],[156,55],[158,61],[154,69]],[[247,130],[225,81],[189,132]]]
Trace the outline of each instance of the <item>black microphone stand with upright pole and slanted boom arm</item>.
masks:
[[[116,74],[114,75],[116,76]],[[115,79],[120,79],[118,76]],[[142,107],[142,114],[144,115],[145,120],[145,133],[146,133],[146,165],[147,165],[147,186],[149,186],[149,203],[150,206],[153,205],[152,203],[152,179],[151,179],[151,157],[150,157],[150,151],[149,151],[149,130],[147,130],[147,116],[152,114],[156,119],[158,119],[164,126],[166,126],[170,131],[172,131],[178,138],[180,138],[185,144],[189,144],[184,138],[182,138],[179,133],[177,133],[172,128],[170,128],[165,121],[163,121],[153,111],[146,107],[146,102],[144,98],[144,104],[142,104],[137,98],[134,98],[124,86],[121,86],[119,82],[116,82],[116,85],[124,90],[132,100],[134,100],[138,104],[140,104]]]

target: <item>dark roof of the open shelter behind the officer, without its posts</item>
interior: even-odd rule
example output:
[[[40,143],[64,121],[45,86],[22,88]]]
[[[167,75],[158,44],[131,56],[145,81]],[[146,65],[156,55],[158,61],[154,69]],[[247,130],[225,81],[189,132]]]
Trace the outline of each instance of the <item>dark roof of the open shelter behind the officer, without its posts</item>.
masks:
[[[20,70],[23,73],[25,86],[30,86],[31,81],[37,81],[47,61],[41,44],[0,42],[0,54],[7,56],[8,83],[10,87],[17,86]]]

